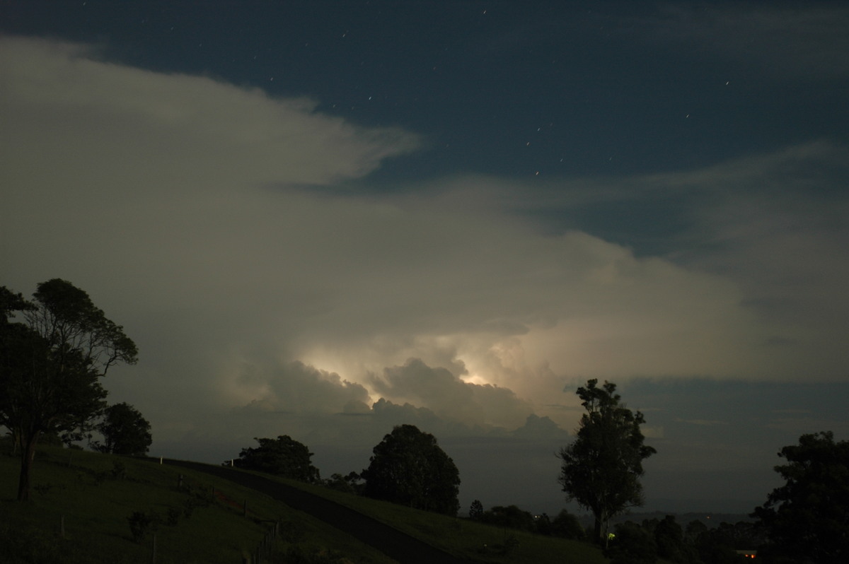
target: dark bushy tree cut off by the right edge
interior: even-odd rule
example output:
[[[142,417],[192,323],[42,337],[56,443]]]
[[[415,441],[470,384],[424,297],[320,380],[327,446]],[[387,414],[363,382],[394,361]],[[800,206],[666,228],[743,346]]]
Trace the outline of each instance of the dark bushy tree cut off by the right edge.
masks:
[[[786,481],[757,507],[772,552],[787,561],[849,561],[849,441],[830,431],[804,434],[785,446],[775,466]]]

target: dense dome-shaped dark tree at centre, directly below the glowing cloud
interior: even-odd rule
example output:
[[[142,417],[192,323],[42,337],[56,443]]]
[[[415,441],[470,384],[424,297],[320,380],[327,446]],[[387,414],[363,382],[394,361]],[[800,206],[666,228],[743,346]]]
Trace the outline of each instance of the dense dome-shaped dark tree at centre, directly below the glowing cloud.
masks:
[[[414,425],[398,425],[372,450],[363,493],[426,511],[457,515],[460,473],[436,443]]]

